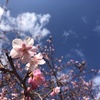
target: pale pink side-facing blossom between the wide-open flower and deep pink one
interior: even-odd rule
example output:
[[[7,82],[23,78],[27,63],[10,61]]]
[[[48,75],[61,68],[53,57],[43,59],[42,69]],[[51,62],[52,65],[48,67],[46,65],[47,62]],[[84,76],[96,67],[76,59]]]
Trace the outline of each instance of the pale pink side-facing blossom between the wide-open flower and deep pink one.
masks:
[[[43,64],[45,64],[43,56],[41,53],[38,53],[31,58],[29,63],[26,64],[26,70],[34,71],[38,67],[38,65]]]

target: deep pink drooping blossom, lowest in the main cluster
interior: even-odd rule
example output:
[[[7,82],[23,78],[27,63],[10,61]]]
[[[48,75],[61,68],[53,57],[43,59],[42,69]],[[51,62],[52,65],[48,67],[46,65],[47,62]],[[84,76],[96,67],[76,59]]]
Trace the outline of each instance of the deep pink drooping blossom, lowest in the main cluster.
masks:
[[[36,89],[38,86],[45,82],[45,77],[42,75],[40,69],[33,71],[33,77],[28,79],[28,84],[31,84],[32,89]]]

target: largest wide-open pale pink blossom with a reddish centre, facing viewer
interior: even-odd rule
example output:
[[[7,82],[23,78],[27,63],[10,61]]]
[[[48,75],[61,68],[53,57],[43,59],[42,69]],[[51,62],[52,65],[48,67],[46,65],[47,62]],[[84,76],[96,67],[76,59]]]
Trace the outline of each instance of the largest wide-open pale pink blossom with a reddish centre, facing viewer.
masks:
[[[37,48],[33,44],[34,40],[31,37],[26,37],[24,41],[18,38],[14,39],[12,41],[13,49],[10,52],[10,56],[12,58],[20,58],[23,63],[27,63],[37,51]]]

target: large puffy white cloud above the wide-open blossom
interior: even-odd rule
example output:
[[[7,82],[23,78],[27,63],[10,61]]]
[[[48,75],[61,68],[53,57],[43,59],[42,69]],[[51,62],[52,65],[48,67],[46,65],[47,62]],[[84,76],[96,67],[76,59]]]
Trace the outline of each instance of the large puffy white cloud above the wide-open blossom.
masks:
[[[0,10],[3,9],[0,7]],[[2,12],[0,13],[2,14]],[[2,31],[20,31],[21,36],[27,36],[27,33],[31,34],[34,39],[37,36],[39,40],[47,36],[50,32],[44,26],[49,22],[49,14],[36,14],[36,13],[22,13],[17,17],[12,17],[10,11],[6,11],[3,15],[0,24],[0,30]]]

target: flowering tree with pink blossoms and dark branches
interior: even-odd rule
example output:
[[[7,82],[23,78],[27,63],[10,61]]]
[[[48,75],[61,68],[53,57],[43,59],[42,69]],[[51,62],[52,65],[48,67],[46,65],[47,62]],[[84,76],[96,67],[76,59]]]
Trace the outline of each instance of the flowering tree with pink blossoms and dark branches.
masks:
[[[54,57],[52,36],[45,46],[34,44],[32,37],[16,36],[11,49],[1,50],[0,100],[96,100],[94,83],[85,76],[99,70],[88,70],[85,61],[63,63],[63,56]]]

